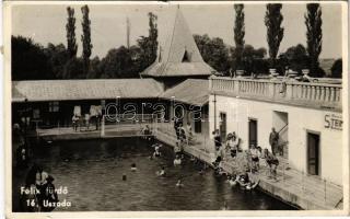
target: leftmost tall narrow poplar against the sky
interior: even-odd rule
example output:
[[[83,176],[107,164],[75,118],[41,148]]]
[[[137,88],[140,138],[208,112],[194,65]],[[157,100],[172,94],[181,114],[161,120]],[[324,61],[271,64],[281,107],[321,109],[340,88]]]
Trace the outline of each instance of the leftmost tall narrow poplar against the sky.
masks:
[[[68,7],[67,8],[68,19],[66,24],[67,31],[67,50],[69,54],[69,58],[73,58],[77,56],[78,45],[75,42],[75,18],[74,18],[74,9]]]

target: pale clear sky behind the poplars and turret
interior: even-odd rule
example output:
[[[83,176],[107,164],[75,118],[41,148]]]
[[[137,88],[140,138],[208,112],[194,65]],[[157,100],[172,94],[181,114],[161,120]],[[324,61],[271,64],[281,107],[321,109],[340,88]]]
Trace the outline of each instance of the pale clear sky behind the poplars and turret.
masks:
[[[12,8],[12,35],[32,37],[34,42],[46,46],[48,43],[66,43],[67,10],[75,10],[75,34],[78,53],[81,54],[81,4],[18,4]],[[89,4],[92,57],[104,57],[112,48],[126,45],[126,20],[131,23],[130,44],[148,35],[148,13],[158,15],[159,41],[161,45],[171,33],[177,5],[162,4]],[[221,37],[225,44],[234,46],[233,25],[234,9],[232,4],[180,4],[179,9],[192,34],[208,34]],[[266,5],[262,3],[245,4],[245,43],[254,47],[268,48],[264,16]],[[284,37],[280,53],[296,44],[306,45],[304,14],[305,3],[284,3],[282,8]],[[322,3],[323,51],[320,58],[341,57],[341,4],[338,2]]]

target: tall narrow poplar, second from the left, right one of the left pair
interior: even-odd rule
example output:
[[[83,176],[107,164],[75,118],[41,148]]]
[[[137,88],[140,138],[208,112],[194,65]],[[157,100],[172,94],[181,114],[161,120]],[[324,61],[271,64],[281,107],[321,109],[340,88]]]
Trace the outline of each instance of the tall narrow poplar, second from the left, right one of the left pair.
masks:
[[[89,66],[90,66],[90,56],[91,56],[91,49],[92,49],[92,44],[91,44],[91,21],[89,19],[89,7],[84,5],[81,8],[81,12],[83,14],[83,21],[81,23],[83,34],[81,35],[81,42],[83,45],[83,69],[84,72],[88,73],[89,71]]]

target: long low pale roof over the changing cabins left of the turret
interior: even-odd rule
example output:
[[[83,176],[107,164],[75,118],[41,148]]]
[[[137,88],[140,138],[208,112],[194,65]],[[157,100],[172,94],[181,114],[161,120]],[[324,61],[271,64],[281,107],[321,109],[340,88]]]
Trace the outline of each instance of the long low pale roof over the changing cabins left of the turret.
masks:
[[[163,92],[154,79],[95,79],[13,81],[12,102],[158,97]]]

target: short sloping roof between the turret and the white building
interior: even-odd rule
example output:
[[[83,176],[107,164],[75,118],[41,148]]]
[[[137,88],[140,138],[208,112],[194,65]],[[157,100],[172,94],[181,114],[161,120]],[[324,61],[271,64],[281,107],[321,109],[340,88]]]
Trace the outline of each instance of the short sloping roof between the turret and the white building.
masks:
[[[202,106],[209,102],[209,80],[187,79],[160,97]]]

